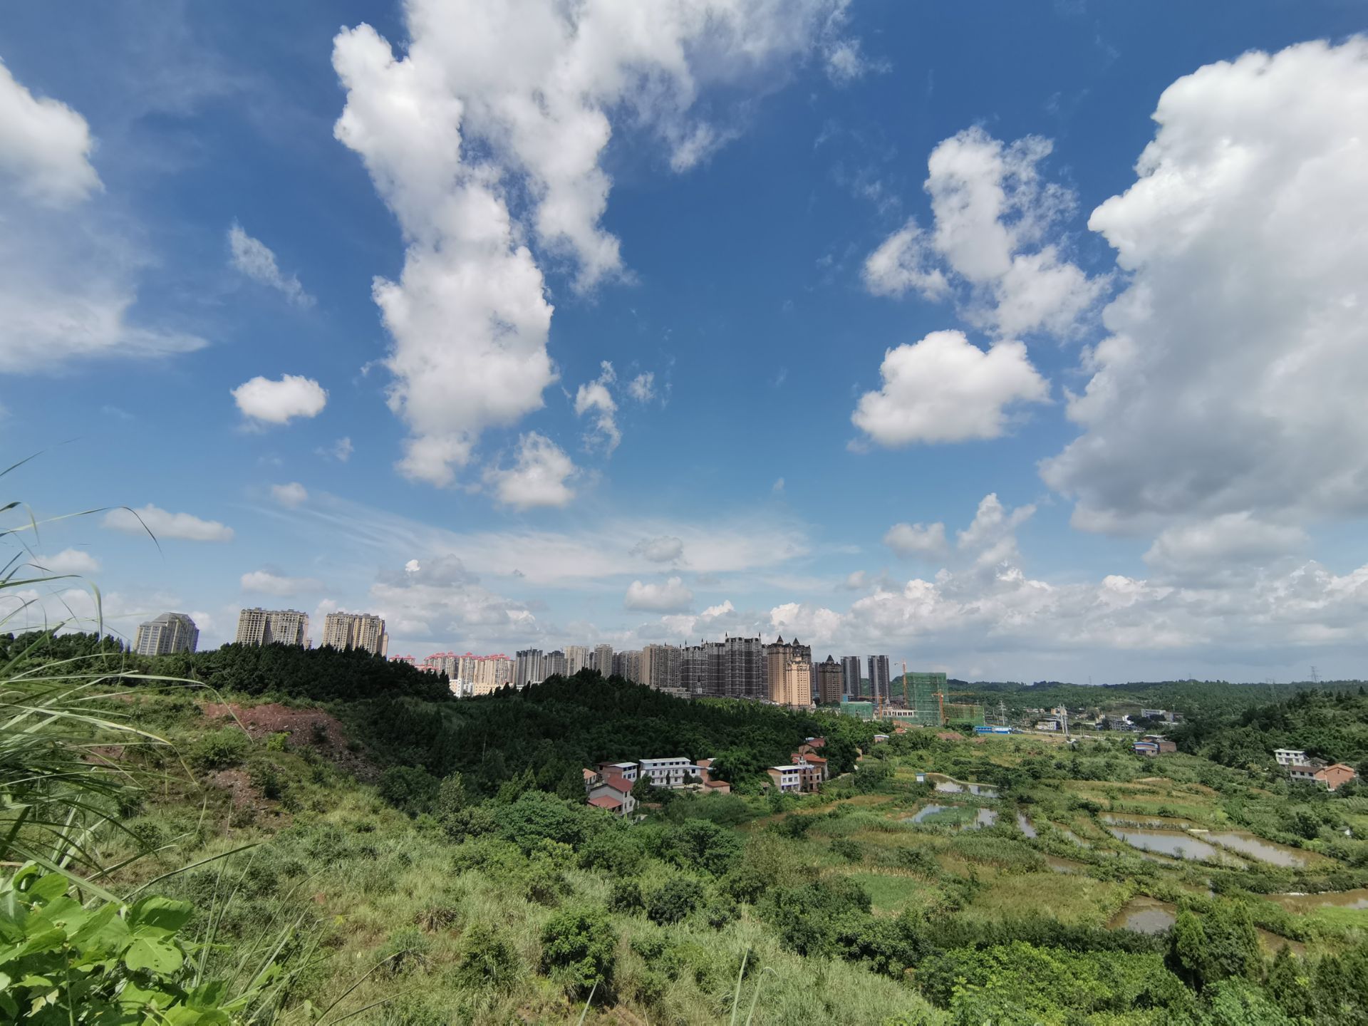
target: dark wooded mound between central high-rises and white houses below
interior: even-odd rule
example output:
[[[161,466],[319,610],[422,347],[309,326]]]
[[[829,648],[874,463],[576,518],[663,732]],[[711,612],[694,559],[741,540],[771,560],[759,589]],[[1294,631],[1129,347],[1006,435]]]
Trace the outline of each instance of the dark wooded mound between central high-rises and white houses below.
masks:
[[[430,703],[401,700],[383,711],[365,703],[354,726],[389,765],[432,777],[461,773],[468,788],[494,793],[531,773],[547,791],[583,795],[581,770],[603,759],[715,758],[718,774],[757,780],[784,763],[804,737],[824,736],[832,772],[867,747],[873,724],[833,713],[795,713],[758,702],[672,698],[592,670],[550,677],[525,691]]]

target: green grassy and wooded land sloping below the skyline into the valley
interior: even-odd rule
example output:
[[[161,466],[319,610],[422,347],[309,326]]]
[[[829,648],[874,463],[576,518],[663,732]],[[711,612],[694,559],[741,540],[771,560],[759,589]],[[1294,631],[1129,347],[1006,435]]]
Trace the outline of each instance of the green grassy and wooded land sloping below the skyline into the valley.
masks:
[[[735,1004],[741,1023],[752,1003],[754,1023],[1368,1015],[1368,911],[1349,907],[1368,886],[1365,798],[1119,739],[873,746],[869,724],[595,674],[457,702],[369,661],[328,696],[309,668],[337,657],[286,655],[293,676],[272,677],[269,653],[220,653],[198,685],[119,680],[67,728],[88,765],[127,774],[118,822],[68,869],[116,900],[183,902],[157,941],[183,947],[167,986],[248,995],[230,1022],[729,1023]],[[761,793],[759,767],[814,733],[850,772],[818,796]],[[657,795],[629,826],[568,774],[674,754],[717,755],[739,793]],[[1137,829],[1185,858],[1118,836]],[[1279,897],[1326,891],[1349,893]],[[1172,929],[1127,928],[1145,915]]]

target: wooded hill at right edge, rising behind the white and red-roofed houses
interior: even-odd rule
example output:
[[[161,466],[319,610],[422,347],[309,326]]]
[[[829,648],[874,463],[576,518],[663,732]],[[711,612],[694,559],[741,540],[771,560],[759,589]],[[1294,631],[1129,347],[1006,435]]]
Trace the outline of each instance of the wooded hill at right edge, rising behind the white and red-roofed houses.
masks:
[[[1233,720],[1192,720],[1172,736],[1183,751],[1227,766],[1267,767],[1274,748],[1302,748],[1368,773],[1368,689],[1305,691]]]

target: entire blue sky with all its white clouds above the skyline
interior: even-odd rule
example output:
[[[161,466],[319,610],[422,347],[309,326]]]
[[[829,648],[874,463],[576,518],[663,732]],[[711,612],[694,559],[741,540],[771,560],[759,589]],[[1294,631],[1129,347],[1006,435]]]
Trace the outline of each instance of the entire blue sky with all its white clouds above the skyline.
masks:
[[[1365,27],[16,8],[0,430],[41,456],[7,480],[159,536],[101,513],[34,561],[207,643],[267,605],[420,658],[761,631],[974,679],[1364,676]]]

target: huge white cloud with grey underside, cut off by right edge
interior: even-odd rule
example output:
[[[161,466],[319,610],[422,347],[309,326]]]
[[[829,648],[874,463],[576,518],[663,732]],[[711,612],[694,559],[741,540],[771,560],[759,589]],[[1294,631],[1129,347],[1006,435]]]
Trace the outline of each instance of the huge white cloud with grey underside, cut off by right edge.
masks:
[[[1135,182],[1089,220],[1129,283],[1070,397],[1081,435],[1042,465],[1075,525],[1368,512],[1365,109],[1364,37],[1164,90]]]

